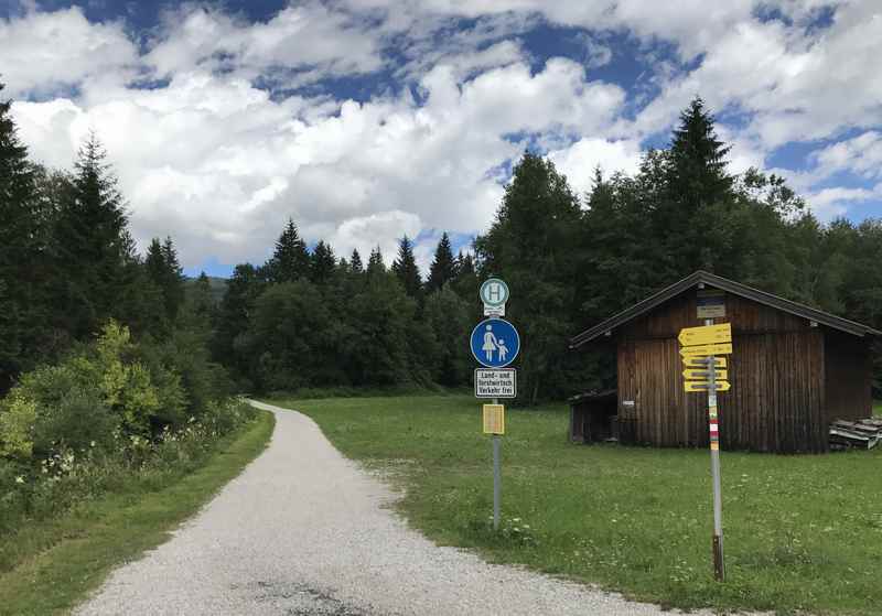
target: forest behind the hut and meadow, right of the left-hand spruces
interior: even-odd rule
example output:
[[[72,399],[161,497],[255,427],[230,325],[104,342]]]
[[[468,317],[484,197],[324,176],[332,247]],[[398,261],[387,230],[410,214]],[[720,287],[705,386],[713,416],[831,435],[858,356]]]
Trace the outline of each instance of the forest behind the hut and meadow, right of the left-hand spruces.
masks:
[[[731,173],[729,150],[696,98],[668,148],[646,152],[634,174],[595,170],[584,195],[527,151],[472,251],[454,258],[444,234],[424,277],[407,237],[389,270],[378,249],[363,267],[325,241],[308,250],[289,220],[266,263],[237,266],[215,357],[258,390],[465,387],[490,275],[512,290],[524,402],[612,386],[614,358],[571,353],[569,337],[698,269],[882,326],[882,223],[822,224],[783,177]]]

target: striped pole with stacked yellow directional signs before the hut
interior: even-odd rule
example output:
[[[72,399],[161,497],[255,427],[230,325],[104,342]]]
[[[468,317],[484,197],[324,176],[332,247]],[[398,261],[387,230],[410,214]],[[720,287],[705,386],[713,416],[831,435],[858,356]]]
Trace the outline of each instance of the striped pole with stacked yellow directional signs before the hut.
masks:
[[[699,306],[699,313],[701,312]],[[701,315],[699,315],[701,316]],[[677,337],[684,367],[684,389],[708,393],[708,426],[710,430],[710,467],[713,476],[713,573],[717,580],[725,576],[723,565],[723,511],[720,488],[720,423],[717,415],[717,392],[729,391],[729,370],[725,358],[732,354],[732,326],[713,324],[706,318],[703,327],[685,327]]]

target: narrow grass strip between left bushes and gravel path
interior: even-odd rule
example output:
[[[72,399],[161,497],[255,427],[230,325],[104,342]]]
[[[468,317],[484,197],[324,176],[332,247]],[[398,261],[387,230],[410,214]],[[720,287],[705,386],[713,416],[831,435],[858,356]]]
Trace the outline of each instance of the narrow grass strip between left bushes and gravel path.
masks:
[[[0,551],[0,615],[65,613],[98,587],[115,566],[169,538],[266,446],[275,419],[261,412],[223,439],[206,463],[184,476],[133,483],[4,538]]]

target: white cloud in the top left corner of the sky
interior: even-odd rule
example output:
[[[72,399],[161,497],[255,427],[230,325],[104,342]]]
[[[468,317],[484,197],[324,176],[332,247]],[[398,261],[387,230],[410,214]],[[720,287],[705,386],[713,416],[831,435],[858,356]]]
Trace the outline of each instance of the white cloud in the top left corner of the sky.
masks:
[[[108,74],[123,80],[138,61],[121,23],[90,23],[78,7],[0,19],[0,41],[6,95],[51,94]]]

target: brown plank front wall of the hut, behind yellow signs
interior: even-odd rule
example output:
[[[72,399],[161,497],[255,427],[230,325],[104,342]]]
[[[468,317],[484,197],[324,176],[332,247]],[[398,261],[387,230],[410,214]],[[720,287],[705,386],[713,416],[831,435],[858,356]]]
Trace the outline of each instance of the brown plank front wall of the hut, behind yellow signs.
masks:
[[[727,450],[826,451],[824,335],[807,321],[727,296],[732,389],[718,396]],[[701,325],[693,294],[673,299],[616,333],[620,425],[634,441],[707,446],[707,395],[686,393],[677,334]],[[625,406],[633,401],[634,406]]]

